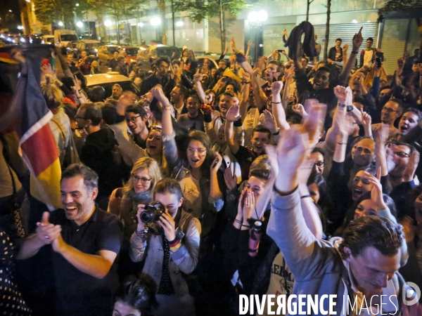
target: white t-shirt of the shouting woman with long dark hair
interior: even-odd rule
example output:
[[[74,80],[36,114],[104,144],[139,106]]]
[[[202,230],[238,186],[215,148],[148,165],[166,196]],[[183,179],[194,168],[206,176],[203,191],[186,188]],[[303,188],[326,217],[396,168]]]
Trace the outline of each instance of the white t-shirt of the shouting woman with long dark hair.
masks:
[[[193,178],[191,173],[179,181],[183,192],[183,209],[196,218],[202,218],[202,197],[200,196],[199,180]]]

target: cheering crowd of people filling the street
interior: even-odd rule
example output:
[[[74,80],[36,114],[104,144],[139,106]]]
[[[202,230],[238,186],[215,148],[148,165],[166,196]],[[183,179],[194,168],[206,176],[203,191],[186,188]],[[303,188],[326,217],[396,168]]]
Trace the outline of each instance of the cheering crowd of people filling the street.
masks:
[[[342,315],[343,296],[394,294],[384,314],[420,315],[400,300],[422,287],[421,51],[388,74],[361,31],[322,61],[307,22],[253,65],[234,39],[217,69],[186,48],[143,75],[115,53],[139,96],[87,88],[98,62],[57,51],[64,77],[44,65],[39,88],[63,209],[30,197],[1,133],[0,310],[238,315],[241,294],[338,294]]]

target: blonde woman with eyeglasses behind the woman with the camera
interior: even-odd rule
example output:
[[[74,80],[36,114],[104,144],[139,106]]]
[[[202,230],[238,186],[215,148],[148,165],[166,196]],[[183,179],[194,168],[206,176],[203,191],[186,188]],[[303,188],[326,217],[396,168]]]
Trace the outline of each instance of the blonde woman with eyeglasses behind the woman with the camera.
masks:
[[[110,195],[107,211],[119,216],[124,227],[119,261],[120,272],[124,275],[128,275],[132,268],[136,270],[129,259],[128,249],[130,237],[136,230],[138,205],[151,202],[155,183],[161,178],[160,167],[155,159],[143,157],[132,167],[127,183],[115,189]]]

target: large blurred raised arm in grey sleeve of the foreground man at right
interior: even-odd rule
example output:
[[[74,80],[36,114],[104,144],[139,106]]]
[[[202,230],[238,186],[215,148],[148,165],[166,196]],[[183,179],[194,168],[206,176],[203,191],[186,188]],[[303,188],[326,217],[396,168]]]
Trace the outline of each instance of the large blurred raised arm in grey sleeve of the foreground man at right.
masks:
[[[283,131],[277,146],[279,176],[274,185],[267,235],[283,252],[295,279],[309,276],[318,265],[316,252],[323,251],[307,228],[298,192],[299,168],[312,150],[315,131],[325,116],[326,107],[317,104],[309,111],[307,124]],[[318,247],[318,249],[315,249]]]

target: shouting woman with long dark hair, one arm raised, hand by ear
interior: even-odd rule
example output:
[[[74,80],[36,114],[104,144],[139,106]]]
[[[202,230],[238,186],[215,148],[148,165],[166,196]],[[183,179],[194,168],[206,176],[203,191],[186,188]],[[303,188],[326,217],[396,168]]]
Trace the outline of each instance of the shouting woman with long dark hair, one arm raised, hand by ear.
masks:
[[[178,150],[174,140],[172,105],[161,88],[155,87],[151,92],[162,103],[162,138],[170,177],[179,181],[184,192],[183,207],[201,221],[205,236],[224,204],[224,173],[219,171],[222,157],[212,151],[210,138],[201,131],[191,131],[184,150]]]

